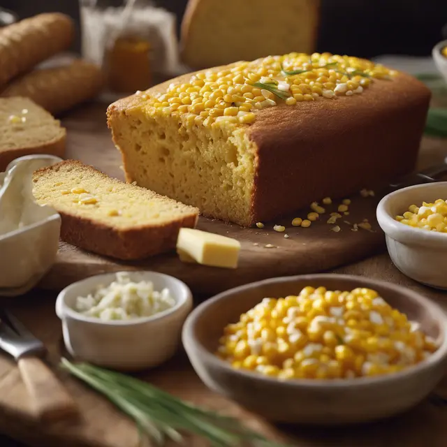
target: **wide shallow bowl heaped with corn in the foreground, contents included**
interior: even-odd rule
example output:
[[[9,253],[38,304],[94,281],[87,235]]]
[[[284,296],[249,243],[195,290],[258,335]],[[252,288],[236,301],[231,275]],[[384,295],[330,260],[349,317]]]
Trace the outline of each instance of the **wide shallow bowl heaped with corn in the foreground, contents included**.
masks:
[[[198,306],[183,344],[200,379],[269,420],[376,420],[444,376],[447,316],[414,291],[338,274],[266,279]]]

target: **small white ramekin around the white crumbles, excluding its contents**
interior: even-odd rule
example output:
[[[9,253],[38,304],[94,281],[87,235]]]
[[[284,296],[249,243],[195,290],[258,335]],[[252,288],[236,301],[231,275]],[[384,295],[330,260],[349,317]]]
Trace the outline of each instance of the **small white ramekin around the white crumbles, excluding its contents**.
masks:
[[[78,296],[108,286],[116,273],[98,274],[64,288],[56,301],[67,351],[79,360],[113,369],[136,371],[160,365],[177,350],[182,325],[191,312],[189,288],[179,279],[156,272],[127,272],[131,281],[152,281],[154,290],[168,288],[177,304],[164,312],[126,321],[101,321],[73,308]]]

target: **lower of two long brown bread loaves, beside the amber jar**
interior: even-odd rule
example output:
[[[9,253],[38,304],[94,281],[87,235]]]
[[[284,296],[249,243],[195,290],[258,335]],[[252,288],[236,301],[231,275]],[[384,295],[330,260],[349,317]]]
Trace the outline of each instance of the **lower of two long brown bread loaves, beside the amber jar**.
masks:
[[[0,96],[27,96],[57,115],[98,94],[103,85],[101,69],[78,59],[67,66],[31,71],[8,84]]]

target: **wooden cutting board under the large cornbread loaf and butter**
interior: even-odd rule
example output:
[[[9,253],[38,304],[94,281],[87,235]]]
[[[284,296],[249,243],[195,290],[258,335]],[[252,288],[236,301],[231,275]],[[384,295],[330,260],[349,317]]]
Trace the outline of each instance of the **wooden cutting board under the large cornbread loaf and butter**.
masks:
[[[121,157],[112,143],[105,122],[106,105],[91,104],[79,108],[63,120],[68,131],[67,158],[80,159],[113,177],[123,178]],[[155,270],[182,279],[195,293],[211,295],[229,287],[268,277],[318,272],[359,261],[384,247],[383,234],[375,220],[376,198],[353,197],[349,215],[339,219],[339,233],[326,223],[329,212],[337,211],[338,203],[326,207],[321,221],[310,228],[291,226],[293,217],[305,218],[297,212],[287,219],[265,223],[265,228],[242,228],[235,224],[200,218],[198,228],[235,237],[242,244],[240,265],[236,270],[210,268],[182,263],[175,253],[154,256],[138,263],[116,262],[89,254],[70,244],[61,243],[57,262],[43,279],[41,286],[60,290],[73,281],[97,273],[117,270]],[[369,219],[373,231],[351,231],[353,223]],[[347,222],[347,223],[346,223]],[[273,230],[274,224],[286,226],[284,233]],[[287,234],[288,238],[284,235]],[[274,248],[266,248],[272,244]]]

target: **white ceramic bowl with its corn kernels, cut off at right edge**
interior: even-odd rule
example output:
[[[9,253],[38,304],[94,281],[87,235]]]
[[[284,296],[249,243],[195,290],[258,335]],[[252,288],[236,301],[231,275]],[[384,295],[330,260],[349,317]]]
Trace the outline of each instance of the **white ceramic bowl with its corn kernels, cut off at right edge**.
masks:
[[[385,196],[377,220],[388,253],[406,276],[447,289],[447,182],[420,184]]]

